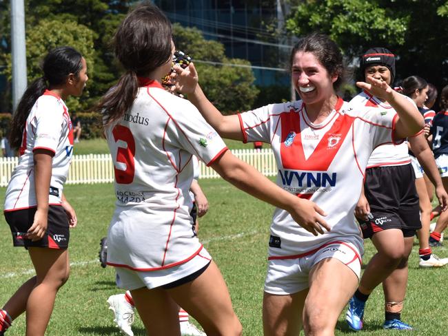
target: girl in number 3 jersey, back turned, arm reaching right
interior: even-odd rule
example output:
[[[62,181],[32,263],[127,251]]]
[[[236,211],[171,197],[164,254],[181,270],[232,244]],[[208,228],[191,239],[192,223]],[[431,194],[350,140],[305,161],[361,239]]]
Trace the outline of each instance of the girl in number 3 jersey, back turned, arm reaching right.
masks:
[[[108,264],[115,266],[117,285],[132,293],[150,335],[179,335],[178,304],[207,335],[240,335],[223,277],[192,233],[192,156],[289,211],[310,231],[323,233],[327,225],[317,206],[235,158],[194,105],[163,89],[174,54],[171,38],[170,21],[150,3],[130,12],[114,36],[125,74],[97,107],[116,178]]]

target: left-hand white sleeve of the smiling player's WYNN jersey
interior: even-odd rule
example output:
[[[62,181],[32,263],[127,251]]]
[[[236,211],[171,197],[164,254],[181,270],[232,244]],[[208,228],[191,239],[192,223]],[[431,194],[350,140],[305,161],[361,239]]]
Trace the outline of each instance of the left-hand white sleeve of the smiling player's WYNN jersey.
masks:
[[[243,142],[271,142],[272,105],[267,105],[252,111],[238,114]]]

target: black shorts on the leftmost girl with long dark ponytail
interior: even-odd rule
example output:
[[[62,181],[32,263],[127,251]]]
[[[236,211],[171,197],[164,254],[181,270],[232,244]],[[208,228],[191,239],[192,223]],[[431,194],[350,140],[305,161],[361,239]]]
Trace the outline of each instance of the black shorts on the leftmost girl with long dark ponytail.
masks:
[[[34,222],[37,208],[6,211],[6,222],[10,225],[12,243],[14,246],[48,247],[49,249],[67,249],[70,240],[70,230],[67,213],[60,205],[50,205],[48,208],[47,232],[41,240],[32,242],[26,238],[28,229]]]

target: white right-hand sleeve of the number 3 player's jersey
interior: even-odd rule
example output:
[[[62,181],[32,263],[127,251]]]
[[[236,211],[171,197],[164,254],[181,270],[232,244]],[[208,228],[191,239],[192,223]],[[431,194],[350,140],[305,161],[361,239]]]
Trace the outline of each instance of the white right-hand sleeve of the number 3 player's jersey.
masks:
[[[176,134],[179,147],[210,166],[227,150],[227,146],[192,103],[182,99],[179,105],[182,109],[173,112],[172,123],[169,123],[168,127]]]

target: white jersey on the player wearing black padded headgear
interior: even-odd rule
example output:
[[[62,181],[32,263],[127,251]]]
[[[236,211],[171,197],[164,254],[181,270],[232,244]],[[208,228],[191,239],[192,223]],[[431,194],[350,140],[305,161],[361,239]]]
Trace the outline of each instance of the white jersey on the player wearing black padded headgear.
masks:
[[[404,96],[409,101],[411,98]],[[394,107],[391,107],[389,103],[382,102],[375,96],[372,96],[368,92],[360,92],[358,95],[350,101],[350,105],[353,107],[365,106],[374,107],[378,113],[382,113],[385,110],[391,110],[395,112]],[[378,145],[371,154],[369,162],[367,162],[367,168],[383,167],[383,166],[400,166],[407,165],[411,162],[409,151],[407,149],[407,142],[403,142],[400,145],[394,145],[389,143],[382,143]]]

